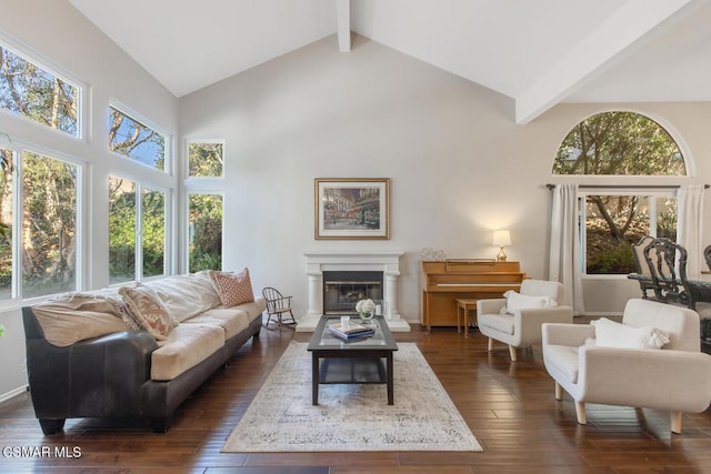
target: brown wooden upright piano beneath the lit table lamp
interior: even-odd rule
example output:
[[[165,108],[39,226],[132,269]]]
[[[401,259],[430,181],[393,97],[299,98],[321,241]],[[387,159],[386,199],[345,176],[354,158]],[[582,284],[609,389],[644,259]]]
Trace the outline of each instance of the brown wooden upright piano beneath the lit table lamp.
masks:
[[[420,316],[422,325],[457,326],[457,300],[501,297],[519,291],[527,278],[519,262],[495,260],[445,260],[422,262],[420,268]]]

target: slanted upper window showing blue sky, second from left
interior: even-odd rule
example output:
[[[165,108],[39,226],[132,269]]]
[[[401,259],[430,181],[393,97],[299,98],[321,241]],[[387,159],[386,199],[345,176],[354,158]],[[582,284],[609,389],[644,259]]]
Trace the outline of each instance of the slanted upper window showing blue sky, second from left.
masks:
[[[166,171],[166,135],[130,117],[117,107],[109,108],[109,150],[157,170]]]

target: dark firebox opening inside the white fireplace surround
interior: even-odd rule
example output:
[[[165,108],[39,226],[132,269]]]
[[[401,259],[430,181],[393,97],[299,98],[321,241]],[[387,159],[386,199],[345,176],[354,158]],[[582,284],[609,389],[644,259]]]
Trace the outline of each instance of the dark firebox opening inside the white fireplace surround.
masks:
[[[353,314],[363,299],[382,303],[382,272],[323,272],[323,314]]]

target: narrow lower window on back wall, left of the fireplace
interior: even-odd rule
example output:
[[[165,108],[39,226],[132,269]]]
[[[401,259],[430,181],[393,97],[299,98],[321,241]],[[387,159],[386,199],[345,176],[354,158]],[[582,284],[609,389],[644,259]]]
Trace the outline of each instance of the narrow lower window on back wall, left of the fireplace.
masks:
[[[190,194],[188,265],[190,272],[222,269],[222,195]]]

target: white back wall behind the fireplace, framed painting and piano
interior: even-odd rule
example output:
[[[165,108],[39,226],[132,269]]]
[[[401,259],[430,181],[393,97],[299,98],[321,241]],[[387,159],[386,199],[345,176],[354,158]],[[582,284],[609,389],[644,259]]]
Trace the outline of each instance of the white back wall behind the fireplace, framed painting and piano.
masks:
[[[402,250],[400,311],[418,321],[422,248],[491,258],[492,230],[507,228],[509,260],[548,275],[555,151],[579,121],[615,107],[631,108],[564,104],[520,127],[507,97],[362,37],[341,53],[331,37],[182,98],[180,128],[227,140],[224,269],[249,266],[256,289],[292,293],[303,313],[304,251]],[[710,104],[632,109],[673,123],[694,155],[711,150],[700,127]],[[391,178],[391,239],[314,240],[313,179],[360,177]],[[624,279],[594,280],[587,306],[620,312],[638,294]]]

